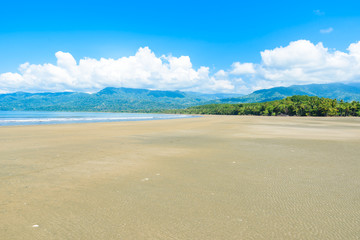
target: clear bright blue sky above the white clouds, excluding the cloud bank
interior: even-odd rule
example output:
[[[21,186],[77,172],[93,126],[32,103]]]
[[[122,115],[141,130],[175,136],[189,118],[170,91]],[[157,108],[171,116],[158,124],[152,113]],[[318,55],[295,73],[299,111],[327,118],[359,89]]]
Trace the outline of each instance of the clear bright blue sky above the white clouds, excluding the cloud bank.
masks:
[[[58,51],[79,61],[149,47],[157,57],[189,56],[210,75],[235,62],[261,64],[262,51],[298,40],[346,52],[360,40],[359,9],[360,1],[346,0],[2,1],[0,73],[25,62],[56,64]]]

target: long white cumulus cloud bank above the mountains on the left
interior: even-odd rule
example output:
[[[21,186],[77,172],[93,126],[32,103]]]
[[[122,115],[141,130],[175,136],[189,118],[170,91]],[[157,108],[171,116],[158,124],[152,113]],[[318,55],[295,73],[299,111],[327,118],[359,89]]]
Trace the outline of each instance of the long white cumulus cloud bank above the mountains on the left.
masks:
[[[211,76],[208,67],[194,69],[188,56],[156,57],[148,48],[139,48],[134,56],[119,59],[80,59],[70,53],[57,52],[57,64],[20,65],[19,73],[0,75],[3,92],[18,90],[86,91],[104,87],[130,87],[169,90],[232,91],[226,78]]]

